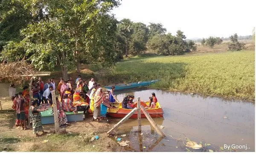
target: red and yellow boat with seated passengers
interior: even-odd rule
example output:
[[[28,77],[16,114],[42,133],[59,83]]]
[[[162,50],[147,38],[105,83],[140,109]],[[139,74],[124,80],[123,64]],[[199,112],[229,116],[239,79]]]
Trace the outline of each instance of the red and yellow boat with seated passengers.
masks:
[[[146,102],[146,103],[143,101],[140,102],[140,105],[142,105],[143,107],[147,106],[148,104],[149,102]],[[133,108],[137,107],[137,103],[134,103],[132,107]],[[123,109],[122,103],[120,103],[117,106],[115,106],[115,108],[111,107],[110,109],[108,109],[107,115],[114,118],[124,118],[129,112],[131,112],[131,110],[132,109]],[[159,102],[157,102],[155,109],[146,109],[146,111],[152,118],[163,117],[163,109],[160,106]],[[138,112],[135,112],[130,118],[134,118],[134,119],[138,118]],[[141,118],[146,118],[142,111],[141,111]]]

